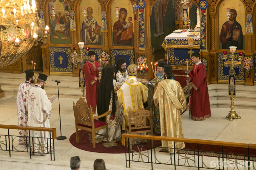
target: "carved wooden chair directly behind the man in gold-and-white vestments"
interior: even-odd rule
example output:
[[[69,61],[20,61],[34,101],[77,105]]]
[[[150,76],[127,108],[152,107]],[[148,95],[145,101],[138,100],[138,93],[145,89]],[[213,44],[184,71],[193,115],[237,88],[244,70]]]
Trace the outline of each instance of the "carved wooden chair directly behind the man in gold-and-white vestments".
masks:
[[[131,120],[132,119],[132,120]],[[153,114],[152,109],[145,110],[143,108],[137,109],[136,111],[129,111],[128,117],[124,115],[125,126],[128,122],[128,126],[125,127],[126,133],[129,134],[138,134],[138,133],[148,133],[150,132],[153,135]],[[131,124],[134,122],[134,125]],[[135,141],[144,141],[145,139],[129,139],[129,144]],[[152,141],[153,145],[153,141]],[[132,147],[130,146],[130,149]]]

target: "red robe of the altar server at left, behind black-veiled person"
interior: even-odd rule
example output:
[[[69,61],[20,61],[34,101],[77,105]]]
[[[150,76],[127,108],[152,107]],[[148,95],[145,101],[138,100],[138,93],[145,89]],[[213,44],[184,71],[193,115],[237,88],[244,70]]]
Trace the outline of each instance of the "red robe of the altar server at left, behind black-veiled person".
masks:
[[[96,114],[97,106],[97,88],[99,85],[98,77],[100,63],[94,61],[87,61],[83,66],[83,72],[85,75],[85,95],[88,106],[94,107],[93,114]]]

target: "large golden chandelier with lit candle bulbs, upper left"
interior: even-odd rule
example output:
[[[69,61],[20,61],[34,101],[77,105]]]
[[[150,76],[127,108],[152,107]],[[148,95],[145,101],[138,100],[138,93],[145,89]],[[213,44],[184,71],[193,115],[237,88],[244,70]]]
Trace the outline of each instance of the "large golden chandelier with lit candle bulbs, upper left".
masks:
[[[0,67],[17,61],[33,45],[37,46],[38,41],[47,42],[50,29],[48,26],[43,28],[37,15],[35,0],[32,0],[31,4],[29,0],[0,0]],[[19,57],[14,57],[17,54]],[[9,59],[12,55],[15,61],[10,59],[3,63],[7,55]]]

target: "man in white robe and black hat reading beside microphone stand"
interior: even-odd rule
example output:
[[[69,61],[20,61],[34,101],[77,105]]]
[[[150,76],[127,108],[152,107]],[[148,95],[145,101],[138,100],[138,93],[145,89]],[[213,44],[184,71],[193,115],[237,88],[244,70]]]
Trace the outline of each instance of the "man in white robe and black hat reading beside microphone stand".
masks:
[[[47,77],[45,74],[39,73],[37,84],[34,87],[30,87],[28,126],[50,128],[49,119],[53,100],[48,99],[44,90]],[[34,137],[34,146],[32,145],[32,141],[30,141],[32,154],[45,155],[51,149],[53,150],[53,140],[45,139],[50,137],[49,133],[45,131],[30,131],[30,136]]]

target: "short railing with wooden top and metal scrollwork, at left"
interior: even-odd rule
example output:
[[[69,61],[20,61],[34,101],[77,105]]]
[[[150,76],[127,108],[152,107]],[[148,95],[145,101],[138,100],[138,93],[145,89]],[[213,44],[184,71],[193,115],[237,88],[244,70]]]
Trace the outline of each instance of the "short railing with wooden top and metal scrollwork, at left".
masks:
[[[51,139],[53,139],[53,153],[52,153],[52,149],[50,148],[50,153],[46,153],[46,154],[50,154],[51,155],[51,160],[52,160],[52,155],[54,156],[54,160],[55,160],[55,149],[54,149],[54,139],[56,139],[56,128],[41,128],[41,127],[32,127],[32,126],[15,126],[15,125],[0,125],[0,129],[8,129],[8,135],[2,135],[1,136],[5,136],[5,140],[0,142],[0,151],[9,151],[9,155],[11,157],[11,151],[12,152],[29,152],[30,153],[30,159],[31,159],[31,154],[34,152],[34,150],[31,152],[31,146],[34,145],[34,143],[32,142],[32,145],[30,144],[30,140],[33,141],[33,138],[36,137],[30,137],[30,131],[45,131],[45,132],[49,132],[50,137],[46,138],[46,139],[50,139],[50,146],[51,146]],[[29,136],[28,137],[24,137],[24,136],[19,136],[19,135],[10,135],[10,129],[20,129],[20,130],[28,130],[29,131]],[[18,133],[18,131],[17,131]],[[8,137],[8,138],[7,138]],[[26,145],[26,149],[27,151],[25,151],[26,149],[24,149],[24,151],[18,151],[17,149],[15,149],[13,147],[13,137],[24,137],[26,139],[29,140],[29,144]],[[38,137],[39,138],[39,137]],[[43,138],[43,137],[42,137]],[[7,144],[7,139],[8,139],[8,144]],[[11,139],[11,140],[10,140]],[[12,145],[10,144],[10,141],[12,141]],[[5,142],[5,144],[3,143]],[[6,149],[4,150],[1,146],[1,144],[6,145]],[[9,148],[7,148],[7,145],[9,145]],[[28,148],[29,147],[29,148]],[[14,148],[14,149],[13,149]],[[47,144],[47,148],[48,148],[48,144]]]

